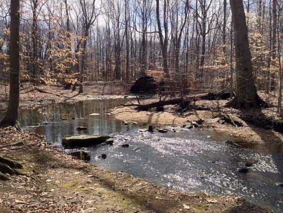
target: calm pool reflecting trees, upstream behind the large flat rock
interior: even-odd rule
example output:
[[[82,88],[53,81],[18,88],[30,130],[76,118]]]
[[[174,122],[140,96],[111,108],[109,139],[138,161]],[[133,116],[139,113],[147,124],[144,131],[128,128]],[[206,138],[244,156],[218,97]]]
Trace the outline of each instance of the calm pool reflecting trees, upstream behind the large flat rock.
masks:
[[[87,133],[109,135],[129,129],[120,120],[105,114],[110,108],[121,106],[125,100],[89,100],[77,103],[63,103],[47,106],[42,111],[27,109],[19,111],[19,122],[25,130],[46,135],[49,142],[60,142],[64,135]],[[89,115],[99,113],[99,115]],[[75,119],[72,119],[72,118]],[[62,120],[67,119],[67,120]],[[46,122],[46,123],[45,123]],[[56,128],[54,127],[56,126]],[[86,126],[87,130],[77,131],[78,126]]]

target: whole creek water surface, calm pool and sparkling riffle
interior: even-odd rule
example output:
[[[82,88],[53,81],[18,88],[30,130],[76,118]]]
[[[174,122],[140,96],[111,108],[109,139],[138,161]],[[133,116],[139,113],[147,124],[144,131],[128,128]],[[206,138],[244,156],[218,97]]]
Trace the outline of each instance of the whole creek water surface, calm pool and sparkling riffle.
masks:
[[[123,125],[105,114],[121,102],[124,100],[65,103],[47,106],[44,113],[37,109],[21,110],[20,123],[26,130],[45,134],[53,143],[61,141],[60,132],[77,134],[78,126],[88,127],[79,133],[111,134],[115,138],[114,145],[90,149],[91,163],[113,172],[122,170],[174,190],[233,194],[282,212],[283,187],[276,186],[283,182],[282,146],[243,144],[244,148],[235,148],[223,143],[234,138],[200,128],[183,132],[140,132],[139,128],[148,124]],[[99,115],[89,115],[91,113]],[[61,120],[63,118],[67,120]],[[208,135],[211,138],[208,139]],[[129,147],[122,148],[126,143]],[[106,159],[98,158],[102,153],[107,154]],[[237,172],[247,161],[254,163],[248,173]]]

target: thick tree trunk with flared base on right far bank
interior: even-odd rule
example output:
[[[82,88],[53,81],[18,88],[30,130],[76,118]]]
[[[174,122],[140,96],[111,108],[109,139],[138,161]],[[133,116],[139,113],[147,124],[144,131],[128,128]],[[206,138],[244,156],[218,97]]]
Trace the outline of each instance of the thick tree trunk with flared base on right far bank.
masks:
[[[235,98],[227,104],[234,108],[265,106],[254,85],[248,29],[242,0],[230,0],[234,26],[237,89]]]

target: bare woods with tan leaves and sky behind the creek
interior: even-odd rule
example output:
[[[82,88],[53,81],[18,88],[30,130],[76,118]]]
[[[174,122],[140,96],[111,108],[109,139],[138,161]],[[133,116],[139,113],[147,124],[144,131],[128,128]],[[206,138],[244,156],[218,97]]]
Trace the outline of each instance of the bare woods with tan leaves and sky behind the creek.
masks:
[[[257,90],[282,88],[283,3],[244,0]],[[10,1],[0,2],[0,75],[8,81]],[[174,88],[235,90],[226,0],[23,0],[21,81],[130,82],[154,75]],[[13,51],[13,50],[11,50]],[[80,87],[82,92],[82,86]]]

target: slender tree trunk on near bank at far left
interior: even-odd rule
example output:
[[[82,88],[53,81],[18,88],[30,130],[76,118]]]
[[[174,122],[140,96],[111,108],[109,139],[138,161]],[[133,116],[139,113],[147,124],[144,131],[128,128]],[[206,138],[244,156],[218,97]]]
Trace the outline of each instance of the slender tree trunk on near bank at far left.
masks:
[[[20,1],[11,0],[10,8],[10,90],[8,110],[0,122],[0,127],[18,127],[18,108],[19,108],[19,81],[20,81],[20,58],[19,58],[19,25],[20,25]]]

